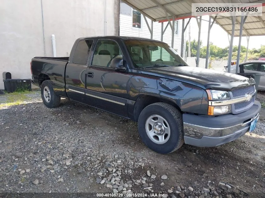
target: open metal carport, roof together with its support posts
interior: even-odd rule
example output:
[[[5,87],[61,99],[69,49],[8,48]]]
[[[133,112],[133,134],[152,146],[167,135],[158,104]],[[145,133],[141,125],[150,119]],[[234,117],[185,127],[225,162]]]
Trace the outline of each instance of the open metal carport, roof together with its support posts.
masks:
[[[138,10],[144,17],[150,18],[152,21],[159,21],[159,22],[166,22],[176,19],[184,19],[191,18],[192,16],[192,3],[224,3],[220,0],[121,0],[122,2],[126,3],[130,7]],[[262,16],[248,16],[243,18],[239,17],[224,17],[224,16],[209,16],[213,19],[213,22],[209,20],[209,28],[208,34],[210,33],[210,28],[213,23],[217,23],[223,28],[228,34],[231,35],[231,42],[230,42],[230,50],[229,50],[229,60],[228,60],[228,72],[230,72],[230,62],[231,62],[231,55],[232,55],[232,44],[234,36],[239,36],[240,40],[242,36],[247,36],[249,40],[249,36],[257,36],[257,35],[265,35],[265,0],[257,1],[257,0],[232,0],[231,3],[262,3]],[[201,26],[201,17],[195,17],[199,26],[199,34],[198,34],[198,43],[200,41],[200,26]],[[241,23],[241,19],[244,22]],[[147,21],[146,21],[147,22]],[[189,23],[189,21],[188,21]],[[148,24],[147,24],[148,25]],[[169,23],[172,29],[172,48],[173,48],[173,39],[174,39],[174,23]],[[152,24],[151,24],[152,26]],[[152,37],[152,28],[149,27],[149,31]],[[163,25],[162,25],[163,28]],[[167,27],[166,27],[167,28]],[[185,31],[186,27],[184,25],[182,29]],[[183,34],[182,33],[182,40]],[[161,38],[163,37],[163,29],[161,31]],[[162,39],[161,39],[162,40]],[[240,49],[241,43],[239,43]],[[184,43],[182,42],[181,48],[184,48]],[[207,41],[207,51],[209,50],[209,35]],[[199,50],[199,45],[198,45]],[[197,50],[197,51],[198,51]],[[183,50],[182,50],[183,51]],[[240,51],[240,50],[239,50]],[[181,53],[183,57],[183,53]],[[238,62],[238,61],[237,61]],[[207,62],[205,68],[207,68]],[[197,63],[196,66],[199,66],[199,53],[197,53]],[[238,63],[237,63],[238,66]]]

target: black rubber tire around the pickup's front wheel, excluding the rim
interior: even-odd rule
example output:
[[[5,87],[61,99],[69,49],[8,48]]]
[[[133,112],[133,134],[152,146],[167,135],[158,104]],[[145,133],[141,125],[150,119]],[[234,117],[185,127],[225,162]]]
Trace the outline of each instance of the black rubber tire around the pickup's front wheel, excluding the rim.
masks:
[[[164,144],[153,142],[146,132],[146,120],[154,114],[162,116],[169,124],[170,136]],[[172,153],[175,150],[178,150],[184,143],[182,114],[170,104],[159,102],[150,104],[144,108],[138,118],[138,131],[146,146],[157,153]]]

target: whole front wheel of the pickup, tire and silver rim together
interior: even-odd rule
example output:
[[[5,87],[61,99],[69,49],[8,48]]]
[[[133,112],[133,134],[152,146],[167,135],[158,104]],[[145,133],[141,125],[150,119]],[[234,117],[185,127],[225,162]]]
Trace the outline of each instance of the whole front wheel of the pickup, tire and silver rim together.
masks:
[[[144,108],[138,131],[143,142],[157,153],[171,153],[184,143],[182,114],[170,104],[154,103]]]

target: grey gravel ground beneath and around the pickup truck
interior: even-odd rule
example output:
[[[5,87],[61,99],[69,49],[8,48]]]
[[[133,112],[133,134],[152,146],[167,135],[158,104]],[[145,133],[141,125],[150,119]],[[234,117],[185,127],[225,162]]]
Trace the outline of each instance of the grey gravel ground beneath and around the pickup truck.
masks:
[[[265,115],[257,129],[214,148],[149,150],[137,123],[40,92],[5,106],[0,95],[0,192],[145,192],[171,198],[265,197]],[[259,93],[258,99],[265,102]]]

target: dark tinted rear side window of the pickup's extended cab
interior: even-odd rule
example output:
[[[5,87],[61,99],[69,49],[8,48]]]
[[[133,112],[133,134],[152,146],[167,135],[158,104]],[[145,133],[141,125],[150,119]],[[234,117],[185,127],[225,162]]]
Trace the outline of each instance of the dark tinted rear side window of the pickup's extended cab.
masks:
[[[93,40],[81,40],[78,42],[76,51],[73,57],[73,63],[86,64],[90,48],[93,44]]]

